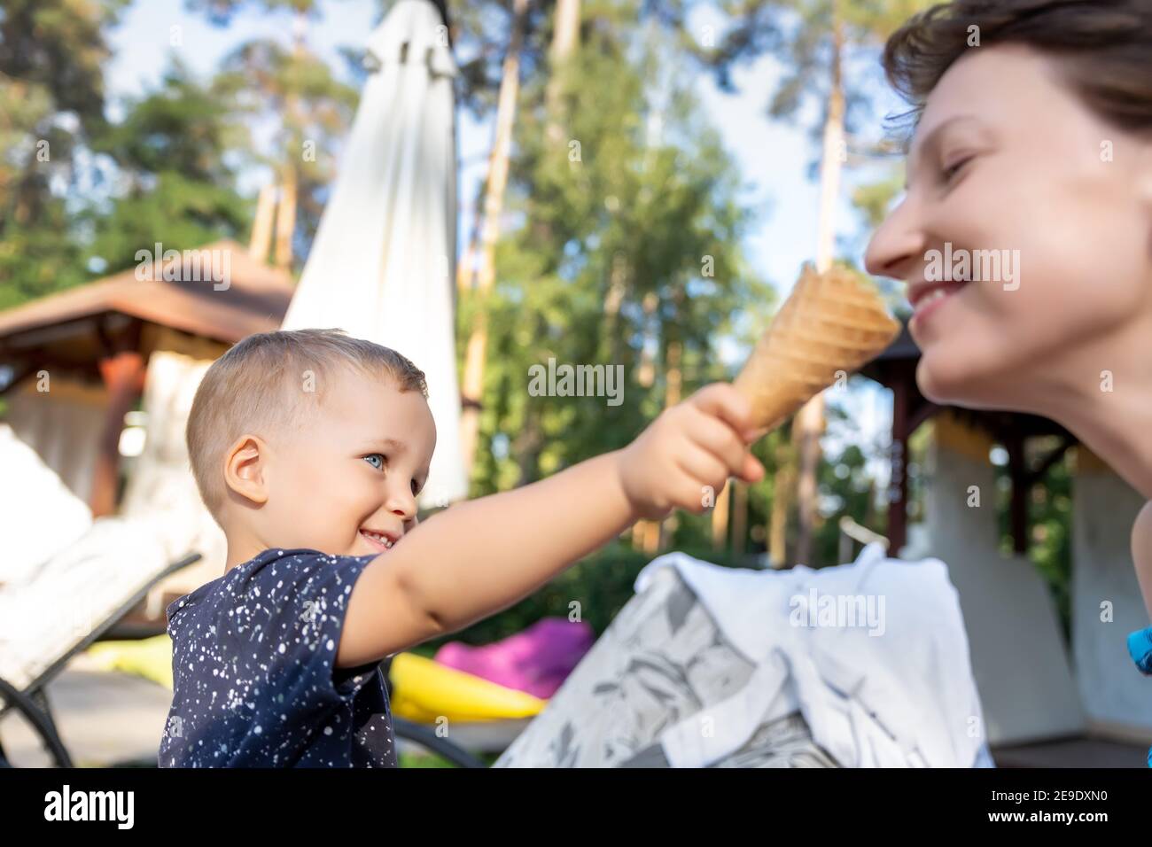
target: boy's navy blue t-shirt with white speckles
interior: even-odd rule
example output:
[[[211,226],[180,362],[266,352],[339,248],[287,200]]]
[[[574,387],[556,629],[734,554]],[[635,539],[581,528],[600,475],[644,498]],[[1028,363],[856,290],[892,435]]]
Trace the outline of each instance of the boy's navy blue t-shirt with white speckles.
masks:
[[[167,610],[161,767],[395,767],[379,663],[336,668],[371,555],[265,550]]]

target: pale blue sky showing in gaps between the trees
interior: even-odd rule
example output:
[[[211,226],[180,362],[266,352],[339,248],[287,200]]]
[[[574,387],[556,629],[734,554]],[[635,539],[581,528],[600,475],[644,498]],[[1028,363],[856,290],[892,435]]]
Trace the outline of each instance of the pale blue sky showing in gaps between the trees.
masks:
[[[369,31],[378,23],[377,2],[340,0],[326,3],[323,13],[323,17],[310,22],[308,43],[339,74],[343,74],[346,62],[338,51],[342,46],[364,43]],[[719,23],[699,17],[692,21],[692,25],[700,28],[713,22]],[[249,9],[237,14],[227,28],[218,28],[203,15],[190,14],[183,0],[136,0],[111,36],[115,55],[108,65],[108,93],[114,101],[118,97],[138,96],[156,86],[173,52],[179,52],[189,67],[206,77],[227,53],[244,41],[274,38],[287,43],[291,38],[291,24],[288,14],[268,15]],[[179,47],[172,46],[174,31],[181,40]],[[763,58],[737,69],[734,75],[737,84],[735,94],[719,91],[703,74],[696,88],[704,109],[720,130],[741,171],[744,199],[756,213],[756,221],[745,236],[746,255],[758,272],[783,296],[798,275],[801,265],[816,252],[819,196],[816,181],[808,176],[813,151],[806,128],[774,122],[766,116],[766,105],[779,78],[780,68],[775,60]],[[881,97],[879,103],[880,114],[899,107],[899,101],[890,96]],[[812,120],[814,116],[806,118]],[[484,176],[491,142],[491,126],[477,124],[461,113],[458,232],[462,237],[471,230],[472,198],[478,181]],[[876,173],[872,171],[863,175]],[[859,176],[846,173],[841,192],[843,198],[848,197],[852,180]],[[251,174],[244,188],[255,192],[266,179],[263,174]],[[838,228],[842,235],[852,236],[857,262],[862,259],[859,254],[865,243],[864,237],[858,237],[861,226],[847,199],[842,201]],[[726,362],[738,361],[741,355],[742,351],[734,345],[721,347]],[[863,438],[870,440],[887,428],[889,401],[882,392],[854,391],[847,404],[857,422],[857,433],[863,433]],[[840,437],[833,434],[832,438],[839,440]],[[827,446],[835,448],[832,444]]]

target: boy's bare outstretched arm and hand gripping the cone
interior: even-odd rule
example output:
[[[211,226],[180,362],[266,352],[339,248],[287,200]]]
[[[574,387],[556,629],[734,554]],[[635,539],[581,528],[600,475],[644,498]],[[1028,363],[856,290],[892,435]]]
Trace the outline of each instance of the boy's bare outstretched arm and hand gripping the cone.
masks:
[[[623,449],[532,485],[434,515],[379,555],[348,600],[336,665],[382,659],[507,608],[642,517],[705,511],[729,476],[755,482],[759,433],[735,388],[715,383]]]

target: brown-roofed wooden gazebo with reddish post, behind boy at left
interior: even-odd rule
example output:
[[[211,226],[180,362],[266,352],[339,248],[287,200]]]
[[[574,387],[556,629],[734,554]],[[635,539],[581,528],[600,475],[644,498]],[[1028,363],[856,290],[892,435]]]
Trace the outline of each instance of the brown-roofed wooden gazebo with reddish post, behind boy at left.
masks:
[[[205,279],[203,269],[213,266],[227,267],[227,279]],[[46,375],[88,392],[103,408],[91,489],[75,492],[93,516],[116,508],[120,433],[144,388],[151,354],[173,349],[215,358],[245,335],[278,328],[293,294],[286,272],[252,259],[233,241],[144,271],[129,269],[0,312],[0,395],[13,398]],[[51,402],[52,392],[43,399]]]

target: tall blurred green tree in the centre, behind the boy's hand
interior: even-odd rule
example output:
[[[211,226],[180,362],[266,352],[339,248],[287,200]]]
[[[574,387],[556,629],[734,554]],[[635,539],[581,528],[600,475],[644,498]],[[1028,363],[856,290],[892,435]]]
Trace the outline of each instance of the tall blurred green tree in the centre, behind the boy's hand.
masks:
[[[664,408],[670,343],[687,396],[729,376],[719,338],[744,328],[741,318],[756,324],[772,301],[744,264],[735,168],[689,81],[668,74],[657,48],[624,40],[624,23],[593,18],[556,71],[563,118],[543,83],[523,92],[508,215],[517,226],[500,245],[493,294],[465,297],[460,311],[461,350],[476,309],[491,326],[473,494],[623,446]],[[529,368],[550,358],[621,368],[622,402],[528,395]]]

